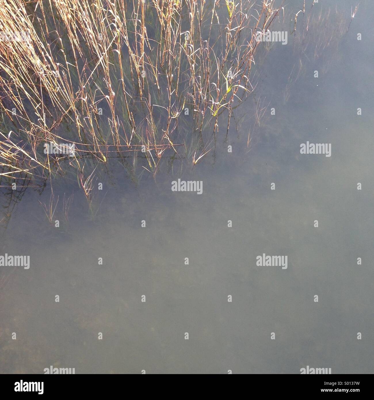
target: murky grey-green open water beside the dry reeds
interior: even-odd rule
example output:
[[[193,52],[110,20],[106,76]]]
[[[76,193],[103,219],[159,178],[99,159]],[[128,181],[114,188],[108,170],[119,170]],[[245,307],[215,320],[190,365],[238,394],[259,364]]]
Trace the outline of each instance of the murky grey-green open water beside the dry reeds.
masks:
[[[349,22],[354,2],[338,3]],[[362,2],[319,57],[312,33],[304,55],[275,43],[256,64],[260,126],[248,98],[193,168],[165,162],[134,183],[113,164],[92,212],[76,180],[57,180],[60,228],[38,202],[50,190],[28,188],[0,246],[30,255],[28,270],[0,267],[0,372],[371,373],[373,10]],[[331,143],[331,157],[300,154],[306,141]],[[202,180],[202,194],[172,192],[178,178]],[[256,266],[263,253],[287,269]]]

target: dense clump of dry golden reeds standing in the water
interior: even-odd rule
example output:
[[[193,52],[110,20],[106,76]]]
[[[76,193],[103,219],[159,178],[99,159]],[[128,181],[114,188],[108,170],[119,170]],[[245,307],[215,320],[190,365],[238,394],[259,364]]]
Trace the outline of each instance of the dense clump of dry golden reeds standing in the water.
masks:
[[[188,142],[196,163],[209,151],[204,132],[223,112],[228,129],[253,90],[255,33],[278,13],[274,0],[0,0],[0,31],[30,32],[0,42],[0,174],[68,164],[89,198],[92,171],[110,157],[156,173]],[[46,142],[74,143],[76,157],[44,154]]]

